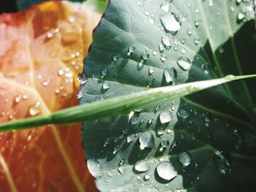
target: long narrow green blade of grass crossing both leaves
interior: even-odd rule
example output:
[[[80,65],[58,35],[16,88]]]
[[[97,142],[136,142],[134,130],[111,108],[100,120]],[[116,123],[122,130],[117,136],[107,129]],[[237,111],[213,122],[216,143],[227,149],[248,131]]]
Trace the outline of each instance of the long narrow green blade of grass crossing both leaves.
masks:
[[[256,74],[236,77],[233,75],[228,75],[227,77],[215,80],[189,82],[182,85],[152,88],[148,91],[142,91],[125,96],[118,96],[112,99],[106,99],[103,101],[96,101],[91,104],[71,107],[66,110],[53,112],[51,115],[42,115],[35,118],[26,118],[8,123],[2,123],[0,124],[0,131],[34,128],[48,124],[73,124],[97,120],[99,118],[107,118],[110,116],[129,113],[132,110],[158,104],[170,99],[187,96],[225,82],[243,80],[253,77],[256,77]]]

